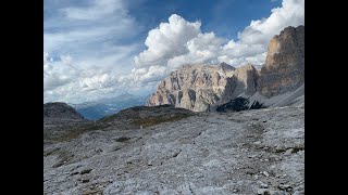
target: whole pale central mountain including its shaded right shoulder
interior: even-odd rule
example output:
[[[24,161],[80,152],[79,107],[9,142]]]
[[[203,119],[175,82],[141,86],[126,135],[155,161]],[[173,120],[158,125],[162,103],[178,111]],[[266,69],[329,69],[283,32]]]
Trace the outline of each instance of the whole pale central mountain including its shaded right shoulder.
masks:
[[[258,70],[252,65],[240,68],[220,65],[185,65],[161,81],[147,106],[172,104],[195,112],[257,90]]]

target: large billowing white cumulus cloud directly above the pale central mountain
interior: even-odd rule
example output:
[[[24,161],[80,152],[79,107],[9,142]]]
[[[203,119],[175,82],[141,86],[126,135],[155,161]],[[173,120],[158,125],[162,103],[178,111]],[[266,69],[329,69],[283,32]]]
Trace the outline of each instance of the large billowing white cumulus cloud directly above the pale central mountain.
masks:
[[[145,41],[148,49],[134,57],[136,68],[127,78],[153,82],[185,63],[216,61],[224,40],[214,32],[202,34],[200,26],[199,21],[188,22],[177,14],[171,15],[167,23],[149,31]]]

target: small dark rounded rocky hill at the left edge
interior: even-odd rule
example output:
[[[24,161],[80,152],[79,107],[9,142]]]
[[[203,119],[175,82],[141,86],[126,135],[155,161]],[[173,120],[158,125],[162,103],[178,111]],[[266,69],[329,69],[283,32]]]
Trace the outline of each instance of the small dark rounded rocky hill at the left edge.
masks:
[[[44,119],[45,118],[84,119],[83,115],[77,113],[72,106],[62,102],[44,104]]]

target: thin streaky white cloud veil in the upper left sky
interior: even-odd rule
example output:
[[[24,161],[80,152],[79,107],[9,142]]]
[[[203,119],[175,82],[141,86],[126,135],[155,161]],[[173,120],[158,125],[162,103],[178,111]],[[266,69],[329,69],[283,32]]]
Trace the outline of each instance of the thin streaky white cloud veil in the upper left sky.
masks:
[[[44,51],[55,56],[71,53],[85,61],[109,57],[121,52],[114,52],[115,46],[127,46],[122,42],[140,29],[124,0],[92,0],[85,6],[65,4],[51,12],[53,16],[44,20]]]

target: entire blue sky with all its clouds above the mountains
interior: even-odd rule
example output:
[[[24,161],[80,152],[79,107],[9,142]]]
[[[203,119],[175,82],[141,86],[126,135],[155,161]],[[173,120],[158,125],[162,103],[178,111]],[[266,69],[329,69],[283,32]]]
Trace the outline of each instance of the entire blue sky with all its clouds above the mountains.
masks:
[[[262,65],[304,0],[45,0],[44,103],[148,95],[184,64]]]

